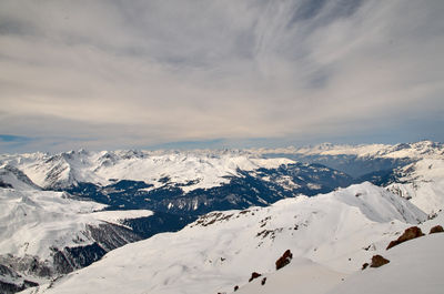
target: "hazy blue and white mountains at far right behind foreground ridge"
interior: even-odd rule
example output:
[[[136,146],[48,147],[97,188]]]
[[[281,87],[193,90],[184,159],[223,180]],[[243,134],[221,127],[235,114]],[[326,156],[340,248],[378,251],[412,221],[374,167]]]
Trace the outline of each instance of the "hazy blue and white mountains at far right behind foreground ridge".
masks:
[[[444,209],[444,144],[334,145],[259,150],[264,155],[321,163],[402,195],[428,214]]]

